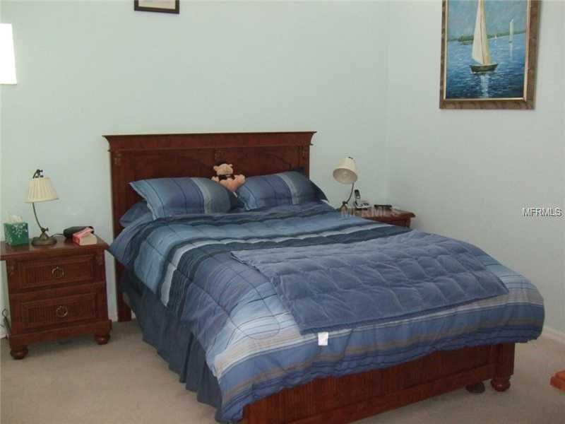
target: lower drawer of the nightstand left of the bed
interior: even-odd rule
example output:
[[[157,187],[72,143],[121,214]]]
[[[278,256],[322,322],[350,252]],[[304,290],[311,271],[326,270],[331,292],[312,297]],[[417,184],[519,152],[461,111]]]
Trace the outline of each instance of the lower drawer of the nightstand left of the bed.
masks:
[[[82,293],[61,298],[23,301],[20,317],[23,331],[54,324],[66,324],[96,318],[97,293]]]

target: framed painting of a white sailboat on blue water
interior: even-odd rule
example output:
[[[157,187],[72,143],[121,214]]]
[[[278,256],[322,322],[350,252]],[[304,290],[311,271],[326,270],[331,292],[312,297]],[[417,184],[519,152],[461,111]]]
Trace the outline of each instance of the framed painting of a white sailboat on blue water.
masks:
[[[443,0],[441,109],[533,109],[540,0]]]

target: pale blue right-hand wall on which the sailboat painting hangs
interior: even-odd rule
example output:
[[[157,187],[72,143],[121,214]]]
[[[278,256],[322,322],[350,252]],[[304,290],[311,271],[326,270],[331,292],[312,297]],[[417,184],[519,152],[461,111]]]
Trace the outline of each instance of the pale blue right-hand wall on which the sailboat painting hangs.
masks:
[[[565,207],[564,9],[542,1],[535,110],[440,110],[441,1],[392,2],[387,101],[388,199],[530,278],[563,333],[565,217],[522,208]]]

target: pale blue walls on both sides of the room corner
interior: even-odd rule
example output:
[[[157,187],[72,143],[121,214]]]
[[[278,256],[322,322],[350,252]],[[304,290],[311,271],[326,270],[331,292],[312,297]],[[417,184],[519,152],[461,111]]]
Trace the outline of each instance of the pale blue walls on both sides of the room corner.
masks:
[[[353,155],[364,196],[528,276],[565,331],[565,218],[521,217],[564,206],[564,18],[543,2],[534,111],[442,111],[439,0],[184,1],[179,16],[2,1],[19,83],[0,89],[1,220],[32,223],[23,196],[42,167],[60,197],[39,205],[49,227],[91,223],[110,240],[102,134],[312,129],[311,174],[334,203],[347,187],[331,170]]]

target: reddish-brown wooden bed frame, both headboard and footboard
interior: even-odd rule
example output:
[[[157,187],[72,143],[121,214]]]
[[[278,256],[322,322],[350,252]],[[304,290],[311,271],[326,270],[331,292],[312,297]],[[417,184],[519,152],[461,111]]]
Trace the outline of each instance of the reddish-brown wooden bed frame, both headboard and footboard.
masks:
[[[211,177],[218,160],[237,164],[244,175],[302,167],[309,172],[314,132],[230,134],[145,134],[105,136],[112,170],[114,236],[119,218],[139,200],[129,187],[136,179]],[[410,213],[408,213],[410,214]],[[406,215],[403,223],[412,216]],[[118,267],[118,278],[121,269]],[[119,281],[119,280],[118,280]],[[119,319],[131,319],[119,294]],[[463,387],[482,391],[492,379],[497,391],[510,387],[514,344],[439,351],[385,370],[315,379],[258,400],[244,409],[246,424],[341,424]]]

